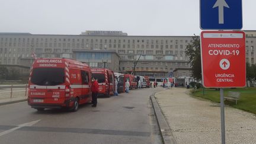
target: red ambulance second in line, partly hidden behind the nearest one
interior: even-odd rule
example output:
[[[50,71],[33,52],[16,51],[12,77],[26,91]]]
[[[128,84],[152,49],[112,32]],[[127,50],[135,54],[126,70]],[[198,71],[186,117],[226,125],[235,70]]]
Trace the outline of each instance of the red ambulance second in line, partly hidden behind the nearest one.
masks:
[[[98,95],[110,97],[114,95],[114,72],[109,69],[91,69],[92,77],[98,79]]]

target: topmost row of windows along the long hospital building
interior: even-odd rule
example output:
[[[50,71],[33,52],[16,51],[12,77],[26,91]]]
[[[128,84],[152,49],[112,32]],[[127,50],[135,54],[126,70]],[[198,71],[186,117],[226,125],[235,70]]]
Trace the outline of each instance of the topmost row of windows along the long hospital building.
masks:
[[[192,40],[134,40],[134,39],[43,39],[43,38],[1,38],[1,41],[18,41],[18,42],[23,42],[23,43],[25,43],[25,42],[39,42],[39,40],[40,41],[44,41],[44,42],[47,42],[47,41],[54,41],[54,42],[57,42],[57,40],[58,41],[72,41],[72,43],[75,43],[75,42],[80,42],[80,41],[82,41],[82,43],[84,43],[85,41],[86,42],[89,42],[89,41],[91,41],[91,43],[94,43],[94,41],[95,42],[100,42],[100,43],[147,43],[147,44],[149,44],[149,43],[161,43],[161,44],[164,44],[164,43],[166,43],[166,44],[168,44],[168,43],[174,43],[174,41],[175,41],[175,43],[191,43],[192,42]]]

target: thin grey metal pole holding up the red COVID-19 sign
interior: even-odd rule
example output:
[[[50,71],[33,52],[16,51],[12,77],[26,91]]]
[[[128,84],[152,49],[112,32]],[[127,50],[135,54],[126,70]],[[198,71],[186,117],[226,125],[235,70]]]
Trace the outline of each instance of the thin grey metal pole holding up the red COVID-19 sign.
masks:
[[[224,113],[224,94],[223,88],[220,88],[220,119],[221,119],[221,130],[222,130],[222,144],[225,144],[225,113]]]

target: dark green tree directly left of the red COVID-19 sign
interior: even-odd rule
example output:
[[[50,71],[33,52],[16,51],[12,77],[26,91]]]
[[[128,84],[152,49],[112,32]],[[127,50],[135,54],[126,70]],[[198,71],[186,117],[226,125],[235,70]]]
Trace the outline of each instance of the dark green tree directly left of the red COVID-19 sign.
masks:
[[[192,43],[188,44],[185,54],[190,60],[192,76],[197,80],[201,80],[201,54],[200,54],[200,37],[194,35]]]

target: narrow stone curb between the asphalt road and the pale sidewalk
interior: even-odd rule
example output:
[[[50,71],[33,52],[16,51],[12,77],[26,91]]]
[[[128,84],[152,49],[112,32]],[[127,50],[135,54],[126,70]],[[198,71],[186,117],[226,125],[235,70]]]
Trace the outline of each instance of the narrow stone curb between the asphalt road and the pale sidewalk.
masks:
[[[155,93],[153,93],[150,98],[153,106],[153,110],[155,112],[156,121],[158,123],[159,131],[161,133],[162,142],[164,144],[177,144],[174,136],[172,135],[171,128],[169,127],[167,121],[164,118],[164,115],[162,114],[161,108],[159,107],[156,99],[155,99]]]

